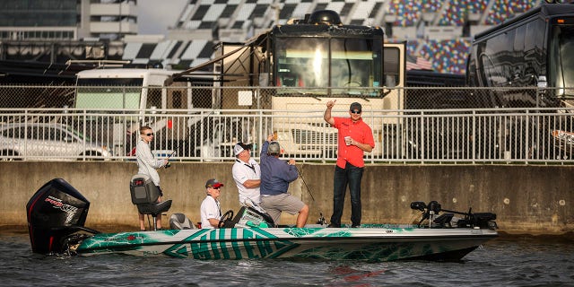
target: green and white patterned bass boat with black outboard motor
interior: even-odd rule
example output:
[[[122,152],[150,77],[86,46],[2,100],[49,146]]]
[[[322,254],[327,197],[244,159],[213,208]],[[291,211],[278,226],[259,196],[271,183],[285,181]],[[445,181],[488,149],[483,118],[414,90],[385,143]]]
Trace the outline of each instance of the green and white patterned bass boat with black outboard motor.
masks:
[[[146,178],[139,182],[145,186]],[[135,179],[132,201],[137,202]],[[135,183],[135,184],[134,184]],[[149,184],[147,185],[149,186]],[[149,188],[148,188],[149,189]],[[137,204],[140,213],[157,216],[170,201]],[[140,208],[142,207],[143,208]],[[170,217],[170,230],[101,233],[84,227],[90,202],[62,178],[46,183],[26,205],[32,251],[41,254],[93,256],[127,254],[196,259],[307,258],[390,261],[400,259],[457,261],[498,236],[494,213],[461,213],[436,201],[411,203],[422,213],[418,224],[363,224],[328,228],[325,220],[303,228],[274,225],[256,204],[223,214],[219,229],[198,229],[182,213]],[[154,207],[157,209],[153,210]],[[155,222],[155,221],[153,221]]]

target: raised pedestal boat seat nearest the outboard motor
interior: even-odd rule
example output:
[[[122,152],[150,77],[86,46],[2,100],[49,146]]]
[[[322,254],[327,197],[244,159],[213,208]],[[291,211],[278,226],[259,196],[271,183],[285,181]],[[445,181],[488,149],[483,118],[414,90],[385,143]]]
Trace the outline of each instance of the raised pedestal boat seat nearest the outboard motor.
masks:
[[[137,211],[142,214],[151,214],[153,217],[153,230],[157,230],[155,219],[161,213],[170,210],[171,199],[158,203],[160,189],[153,184],[152,178],[136,174],[129,183],[132,196],[132,204],[137,206]]]

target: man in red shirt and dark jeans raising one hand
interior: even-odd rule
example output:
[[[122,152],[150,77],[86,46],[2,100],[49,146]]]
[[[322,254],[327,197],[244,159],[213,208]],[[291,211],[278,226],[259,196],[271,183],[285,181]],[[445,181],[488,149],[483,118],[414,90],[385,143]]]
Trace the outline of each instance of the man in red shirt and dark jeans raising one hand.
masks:
[[[363,153],[371,152],[375,140],[370,126],[362,121],[361,104],[353,102],[349,109],[351,117],[331,117],[331,109],[336,100],[326,103],[323,118],[339,130],[337,165],[333,180],[333,215],[329,227],[341,227],[344,195],[349,186],[351,193],[352,227],[361,226],[361,178],[365,167]]]

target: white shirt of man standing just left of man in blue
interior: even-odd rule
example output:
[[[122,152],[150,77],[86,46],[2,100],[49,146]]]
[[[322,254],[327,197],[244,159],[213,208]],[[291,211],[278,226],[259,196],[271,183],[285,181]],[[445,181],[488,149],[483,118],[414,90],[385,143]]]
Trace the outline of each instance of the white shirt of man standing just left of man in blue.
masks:
[[[235,160],[233,164],[233,180],[239,190],[239,204],[243,204],[247,198],[250,198],[256,204],[261,202],[259,198],[259,187],[248,188],[243,183],[248,179],[261,179],[261,167],[254,159],[250,158],[249,162]]]

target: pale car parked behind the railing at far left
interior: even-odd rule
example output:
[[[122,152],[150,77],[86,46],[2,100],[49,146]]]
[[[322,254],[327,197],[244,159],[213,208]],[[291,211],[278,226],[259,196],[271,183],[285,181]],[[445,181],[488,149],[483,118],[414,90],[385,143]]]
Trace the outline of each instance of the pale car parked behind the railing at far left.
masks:
[[[109,160],[105,145],[59,123],[0,123],[0,160]]]

